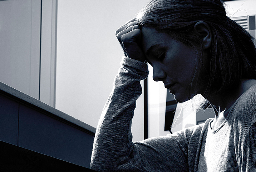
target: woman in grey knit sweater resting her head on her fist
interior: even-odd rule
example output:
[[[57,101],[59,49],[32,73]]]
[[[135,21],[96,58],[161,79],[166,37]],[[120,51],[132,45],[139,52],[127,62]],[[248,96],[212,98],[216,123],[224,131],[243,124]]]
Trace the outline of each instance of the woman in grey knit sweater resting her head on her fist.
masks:
[[[125,57],[97,127],[92,169],[256,171],[256,48],[222,1],[152,0],[116,35]],[[202,94],[215,119],[133,143],[145,60],[178,102]]]

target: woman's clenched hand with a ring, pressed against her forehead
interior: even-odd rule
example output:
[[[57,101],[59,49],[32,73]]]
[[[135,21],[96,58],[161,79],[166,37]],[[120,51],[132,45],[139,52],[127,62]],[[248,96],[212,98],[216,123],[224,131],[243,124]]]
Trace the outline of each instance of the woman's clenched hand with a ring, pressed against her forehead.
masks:
[[[123,49],[126,57],[144,62],[146,60],[141,48],[138,45],[141,30],[134,19],[129,20],[115,31],[115,36]]]

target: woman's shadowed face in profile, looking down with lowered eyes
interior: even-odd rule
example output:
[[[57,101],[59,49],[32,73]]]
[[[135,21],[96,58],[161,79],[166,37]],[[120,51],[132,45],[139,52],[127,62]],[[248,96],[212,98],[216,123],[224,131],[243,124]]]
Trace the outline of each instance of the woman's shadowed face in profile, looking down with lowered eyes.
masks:
[[[195,51],[166,33],[148,27],[141,31],[141,48],[153,67],[153,79],[162,81],[178,102],[199,94],[197,88],[191,88],[197,62]]]

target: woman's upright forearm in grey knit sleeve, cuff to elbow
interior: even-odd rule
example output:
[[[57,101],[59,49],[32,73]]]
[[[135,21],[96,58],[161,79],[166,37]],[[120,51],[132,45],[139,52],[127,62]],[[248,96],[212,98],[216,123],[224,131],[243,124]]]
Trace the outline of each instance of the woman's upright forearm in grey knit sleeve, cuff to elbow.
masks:
[[[107,171],[131,168],[128,158],[134,146],[131,134],[133,111],[142,93],[140,80],[147,75],[147,64],[127,57],[122,59],[95,134],[92,169]]]

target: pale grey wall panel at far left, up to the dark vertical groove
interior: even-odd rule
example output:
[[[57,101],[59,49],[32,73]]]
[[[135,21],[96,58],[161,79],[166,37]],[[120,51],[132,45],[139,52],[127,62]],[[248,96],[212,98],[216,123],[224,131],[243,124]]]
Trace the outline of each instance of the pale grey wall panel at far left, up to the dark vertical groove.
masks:
[[[0,81],[37,99],[40,14],[40,1],[0,1]]]

